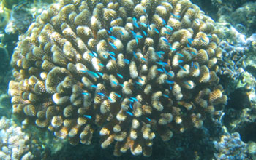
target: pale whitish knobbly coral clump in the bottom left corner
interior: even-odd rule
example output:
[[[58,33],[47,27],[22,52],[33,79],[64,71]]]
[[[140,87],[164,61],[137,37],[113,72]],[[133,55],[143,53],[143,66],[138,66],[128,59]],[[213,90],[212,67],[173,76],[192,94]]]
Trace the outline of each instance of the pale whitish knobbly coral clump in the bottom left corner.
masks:
[[[31,152],[37,147],[31,143],[29,135],[22,132],[13,121],[2,117],[0,119],[0,159],[34,159]]]

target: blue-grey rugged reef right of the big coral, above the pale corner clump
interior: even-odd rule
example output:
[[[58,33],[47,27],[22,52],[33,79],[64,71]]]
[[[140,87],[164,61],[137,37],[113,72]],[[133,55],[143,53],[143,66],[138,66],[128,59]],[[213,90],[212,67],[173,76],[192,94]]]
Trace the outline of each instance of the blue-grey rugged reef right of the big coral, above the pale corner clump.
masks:
[[[220,42],[223,60],[219,63],[222,72],[223,86],[229,100],[224,109],[224,124],[230,132],[239,132],[244,142],[251,140],[256,121],[255,115],[255,34],[246,39],[235,28],[232,44],[227,41]],[[235,32],[234,32],[235,31]],[[232,36],[230,36],[232,37]],[[248,140],[246,140],[248,138]]]

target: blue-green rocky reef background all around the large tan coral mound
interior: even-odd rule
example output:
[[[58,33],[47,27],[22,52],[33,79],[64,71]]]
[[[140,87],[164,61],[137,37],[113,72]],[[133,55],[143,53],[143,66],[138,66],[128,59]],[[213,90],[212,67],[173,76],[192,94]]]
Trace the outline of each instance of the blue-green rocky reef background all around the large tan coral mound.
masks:
[[[6,0],[8,1],[8,0]],[[200,129],[174,134],[170,141],[154,138],[152,155],[133,156],[130,151],[113,156],[113,144],[101,148],[99,134],[91,145],[70,145],[35,125],[23,127],[12,114],[8,83],[14,79],[10,60],[18,36],[50,5],[44,1],[1,1],[0,12],[0,160],[1,159],[256,159],[256,2],[246,0],[192,0],[222,31],[222,84],[227,103],[218,121]],[[12,5],[13,4],[13,5]],[[16,6],[18,4],[18,6]],[[7,9],[7,6],[10,9]],[[16,6],[16,7],[15,7]],[[12,9],[11,9],[12,8]],[[24,10],[23,10],[24,9]],[[13,11],[14,10],[14,11]],[[18,13],[17,13],[18,12]],[[12,13],[12,14],[11,14]],[[15,15],[16,13],[16,15]],[[15,20],[17,20],[17,23]],[[94,133],[99,133],[96,129]]]

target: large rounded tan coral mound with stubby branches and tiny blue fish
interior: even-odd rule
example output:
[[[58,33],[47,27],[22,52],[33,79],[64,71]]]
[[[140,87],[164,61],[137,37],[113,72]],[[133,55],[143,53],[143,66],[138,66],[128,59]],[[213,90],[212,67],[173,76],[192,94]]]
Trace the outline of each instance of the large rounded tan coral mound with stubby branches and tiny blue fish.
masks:
[[[12,111],[73,145],[151,156],[226,102],[214,21],[189,0],[52,4],[12,55]],[[95,125],[96,124],[96,125]]]

